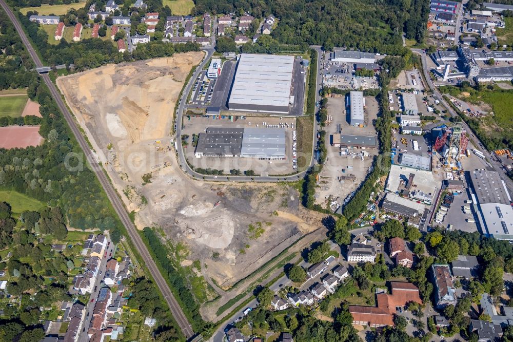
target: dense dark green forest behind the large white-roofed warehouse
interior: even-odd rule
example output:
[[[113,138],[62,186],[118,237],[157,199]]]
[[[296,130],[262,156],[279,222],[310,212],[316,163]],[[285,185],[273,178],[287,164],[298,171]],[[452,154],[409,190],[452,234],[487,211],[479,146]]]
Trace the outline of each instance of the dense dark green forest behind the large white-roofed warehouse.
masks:
[[[280,19],[272,36],[282,44],[343,46],[364,51],[402,54],[401,34],[423,39],[427,22],[427,0],[370,1],[342,0],[197,0],[198,13],[250,11],[255,17],[273,14]],[[427,3],[427,5],[426,5]],[[421,25],[422,24],[422,25]],[[410,33],[411,32],[411,33]]]

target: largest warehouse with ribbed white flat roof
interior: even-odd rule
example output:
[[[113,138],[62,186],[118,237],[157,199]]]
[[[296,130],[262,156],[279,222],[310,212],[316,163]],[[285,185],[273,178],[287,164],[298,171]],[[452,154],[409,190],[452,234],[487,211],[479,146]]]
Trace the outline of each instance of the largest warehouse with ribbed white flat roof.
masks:
[[[293,70],[294,56],[241,54],[228,109],[288,113]]]

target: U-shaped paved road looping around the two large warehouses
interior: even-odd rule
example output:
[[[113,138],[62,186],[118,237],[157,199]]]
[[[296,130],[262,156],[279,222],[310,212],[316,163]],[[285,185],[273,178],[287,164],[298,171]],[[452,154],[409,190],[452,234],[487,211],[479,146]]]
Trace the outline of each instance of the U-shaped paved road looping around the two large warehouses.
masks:
[[[315,86],[315,92],[316,92],[315,101],[317,102],[317,101],[321,100],[321,96],[319,95],[319,91],[321,90],[321,83],[319,83],[320,82],[319,74],[321,72],[322,51],[321,51],[320,46],[312,46],[312,48],[314,48],[317,51],[317,70],[316,70],[317,84]],[[207,52],[207,55],[205,56],[205,59],[203,60],[203,62],[196,68],[196,71],[194,72],[194,74],[190,78],[189,82],[185,86],[184,91],[182,92],[182,98],[179,100],[180,104],[178,106],[178,110],[176,111],[176,142],[178,145],[178,162],[179,162],[180,168],[182,170],[185,170],[185,173],[192,177],[195,177],[197,179],[205,179],[205,180],[209,180],[209,181],[275,182],[278,180],[280,180],[280,181],[295,181],[300,178],[303,178],[306,175],[306,170],[303,172],[300,172],[298,174],[295,174],[292,176],[285,176],[285,177],[269,177],[269,176],[250,177],[250,176],[204,176],[200,173],[195,172],[193,169],[190,168],[189,164],[187,164],[187,162],[185,161],[184,149],[182,148],[182,146],[180,144],[182,141],[182,121],[183,121],[182,119],[183,119],[183,115],[184,115],[184,109],[187,107],[187,104],[186,104],[187,96],[192,88],[192,85],[195,82],[196,78],[198,78],[200,71],[203,69],[205,64],[208,62],[208,60],[212,56],[212,53],[214,52],[214,49],[211,47],[204,48],[203,50]],[[311,71],[313,72],[313,69]],[[306,103],[305,103],[305,105],[306,105]],[[315,112],[317,112],[318,109],[319,108],[316,106]],[[313,141],[315,141],[315,137],[317,136],[317,131],[319,130],[319,125],[318,125],[317,121],[314,122],[313,127],[314,128],[313,128],[312,139],[313,139]],[[314,147],[315,147],[315,144],[313,144],[313,146],[312,146],[312,158],[310,160],[309,166],[312,166],[315,163],[315,160],[313,158],[313,148]]]

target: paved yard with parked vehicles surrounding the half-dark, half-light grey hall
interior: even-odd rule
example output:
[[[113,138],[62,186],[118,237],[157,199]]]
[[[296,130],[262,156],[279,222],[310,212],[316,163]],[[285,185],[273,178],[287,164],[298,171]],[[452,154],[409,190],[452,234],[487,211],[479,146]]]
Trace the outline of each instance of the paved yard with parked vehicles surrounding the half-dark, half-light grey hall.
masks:
[[[192,146],[192,135],[205,132],[209,127],[223,127],[223,128],[258,128],[262,127],[262,122],[266,125],[278,126],[283,124],[285,127],[285,159],[284,160],[269,160],[261,158],[216,158],[216,157],[201,157],[194,156],[195,147]],[[287,127],[288,126],[288,127]],[[214,116],[191,116],[184,119],[184,129],[182,136],[189,136],[189,144],[184,148],[185,157],[188,162],[195,168],[212,168],[223,170],[225,174],[230,174],[231,169],[239,169],[241,172],[246,170],[253,170],[255,175],[274,176],[274,175],[287,175],[292,174],[296,170],[292,167],[292,131],[295,129],[295,119],[292,118],[279,118],[279,117],[235,117],[231,121],[228,117],[219,119]]]

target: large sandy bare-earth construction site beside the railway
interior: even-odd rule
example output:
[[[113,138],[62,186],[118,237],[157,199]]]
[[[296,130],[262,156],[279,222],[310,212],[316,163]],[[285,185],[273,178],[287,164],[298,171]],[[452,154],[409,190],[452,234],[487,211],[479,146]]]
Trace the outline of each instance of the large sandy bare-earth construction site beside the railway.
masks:
[[[201,279],[202,289],[192,290],[203,293],[196,297],[203,297],[204,319],[216,321],[257,279],[282,272],[283,262],[299,260],[326,231],[325,215],[300,205],[295,184],[205,182],[180,169],[173,111],[203,56],[106,65],[56,83],[137,229],[153,227],[170,249],[182,251],[170,255]]]

